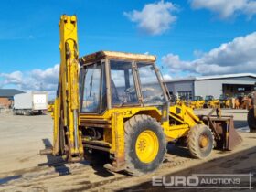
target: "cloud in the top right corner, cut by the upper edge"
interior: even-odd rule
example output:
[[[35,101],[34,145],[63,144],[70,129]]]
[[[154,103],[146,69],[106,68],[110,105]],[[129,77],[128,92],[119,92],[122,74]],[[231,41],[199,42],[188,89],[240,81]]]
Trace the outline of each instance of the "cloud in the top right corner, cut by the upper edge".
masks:
[[[208,9],[220,18],[229,18],[236,15],[254,16],[256,2],[254,0],[190,0],[194,9]]]

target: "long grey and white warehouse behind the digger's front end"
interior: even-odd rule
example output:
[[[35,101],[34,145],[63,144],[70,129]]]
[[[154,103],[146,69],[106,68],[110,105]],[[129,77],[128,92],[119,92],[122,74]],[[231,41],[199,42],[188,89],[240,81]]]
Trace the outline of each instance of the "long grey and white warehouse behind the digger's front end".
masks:
[[[191,99],[193,96],[213,95],[219,98],[221,94],[247,94],[254,91],[255,82],[256,74],[240,73],[167,80],[166,84],[171,94]]]

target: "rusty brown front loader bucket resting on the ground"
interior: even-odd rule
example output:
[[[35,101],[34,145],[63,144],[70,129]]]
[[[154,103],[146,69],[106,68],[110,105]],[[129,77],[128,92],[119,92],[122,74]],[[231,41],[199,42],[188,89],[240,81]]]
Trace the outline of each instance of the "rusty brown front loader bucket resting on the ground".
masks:
[[[242,142],[242,138],[234,128],[232,116],[211,115],[203,116],[204,123],[214,133],[216,148],[221,150],[233,150]]]

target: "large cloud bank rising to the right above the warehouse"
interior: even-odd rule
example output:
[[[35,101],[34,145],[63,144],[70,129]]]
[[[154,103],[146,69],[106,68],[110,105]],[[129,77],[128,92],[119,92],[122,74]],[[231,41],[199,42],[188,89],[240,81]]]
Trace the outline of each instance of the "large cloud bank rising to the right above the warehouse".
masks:
[[[192,61],[172,53],[162,58],[170,72],[188,71],[202,75],[256,72],[256,32],[236,37]]]

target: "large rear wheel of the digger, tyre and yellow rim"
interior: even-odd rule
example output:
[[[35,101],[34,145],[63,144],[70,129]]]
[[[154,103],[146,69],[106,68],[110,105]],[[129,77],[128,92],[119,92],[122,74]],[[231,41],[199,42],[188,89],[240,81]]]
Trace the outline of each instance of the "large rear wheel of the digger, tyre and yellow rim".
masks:
[[[163,128],[148,115],[135,115],[124,123],[126,171],[140,176],[155,171],[166,153]]]

